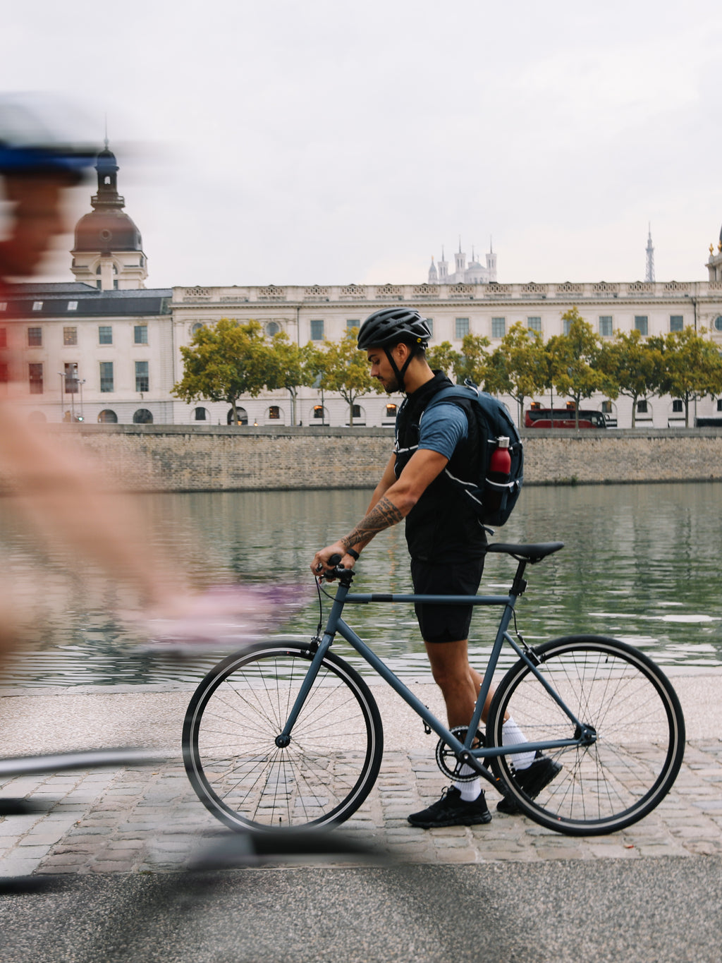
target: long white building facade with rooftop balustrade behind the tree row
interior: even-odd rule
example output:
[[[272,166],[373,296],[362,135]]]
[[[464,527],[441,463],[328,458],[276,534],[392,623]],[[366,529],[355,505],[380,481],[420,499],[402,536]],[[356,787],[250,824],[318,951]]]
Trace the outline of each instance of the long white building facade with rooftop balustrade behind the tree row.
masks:
[[[722,262],[722,256],[720,257]],[[451,342],[457,350],[466,334],[489,338],[492,350],[516,322],[547,338],[564,333],[562,315],[576,306],[580,315],[604,339],[617,331],[634,328],[644,335],[660,335],[689,325],[706,330],[722,351],[722,280],[630,283],[560,284],[384,284],[384,285],[309,285],[288,287],[173,288],[170,309],[173,342],[190,343],[196,325],[214,324],[220,318],[240,322],[260,322],[269,335],[283,330],[299,345],[335,341],[349,328],[357,327],[373,311],[396,303],[417,307],[428,318],[431,344]],[[177,377],[181,375],[176,357]],[[555,404],[559,399],[555,397]],[[512,414],[516,405],[503,399]],[[537,401],[544,402],[544,398]],[[549,396],[546,396],[549,402]],[[354,423],[393,424],[393,398],[369,394],[357,401]],[[241,400],[249,424],[289,424],[291,406],[286,392],[273,392],[256,399]],[[342,399],[301,388],[298,394],[297,421],[318,423],[319,408],[325,424],[347,425],[348,405]],[[389,407],[391,405],[391,407]],[[585,407],[605,411],[611,424],[620,428],[632,425],[629,400],[610,401],[603,396]],[[227,405],[208,405],[214,424],[224,422]],[[704,399],[697,403],[698,416],[722,416],[722,400]],[[176,403],[174,416],[180,423],[190,420],[188,405]],[[683,424],[679,403],[670,398],[648,400],[636,412],[638,427],[668,428]]]

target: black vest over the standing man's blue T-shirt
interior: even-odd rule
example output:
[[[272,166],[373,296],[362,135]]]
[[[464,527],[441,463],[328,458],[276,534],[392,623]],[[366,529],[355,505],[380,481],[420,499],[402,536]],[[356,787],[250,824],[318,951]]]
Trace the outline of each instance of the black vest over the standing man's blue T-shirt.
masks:
[[[408,395],[401,404],[396,421],[396,463],[399,478],[409,459],[417,451],[420,422],[431,398],[452,384],[443,372],[434,372],[430,381]],[[455,402],[454,402],[455,403]],[[463,403],[461,405],[464,407]],[[469,477],[468,441],[456,447],[447,468],[457,478]],[[412,559],[434,564],[476,559],[484,554],[486,534],[477,513],[458,489],[441,472],[426,488],[414,508],[406,516],[406,542]]]

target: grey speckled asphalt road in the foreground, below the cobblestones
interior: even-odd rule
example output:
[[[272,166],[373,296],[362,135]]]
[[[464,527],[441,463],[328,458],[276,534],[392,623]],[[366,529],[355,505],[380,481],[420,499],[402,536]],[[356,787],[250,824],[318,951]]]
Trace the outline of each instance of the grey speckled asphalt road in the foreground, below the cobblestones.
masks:
[[[722,858],[74,875],[0,930],[4,963],[716,963]]]

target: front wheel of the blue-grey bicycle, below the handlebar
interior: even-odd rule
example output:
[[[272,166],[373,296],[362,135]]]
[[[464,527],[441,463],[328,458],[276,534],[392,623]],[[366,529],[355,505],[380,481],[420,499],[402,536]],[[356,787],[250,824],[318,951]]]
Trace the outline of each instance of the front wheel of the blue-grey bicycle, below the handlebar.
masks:
[[[278,737],[313,654],[297,643],[235,653],[198,686],[183,726],[193,789],[232,829],[327,825],[347,820],[370,793],[383,752],[369,687],[327,653],[291,733]]]

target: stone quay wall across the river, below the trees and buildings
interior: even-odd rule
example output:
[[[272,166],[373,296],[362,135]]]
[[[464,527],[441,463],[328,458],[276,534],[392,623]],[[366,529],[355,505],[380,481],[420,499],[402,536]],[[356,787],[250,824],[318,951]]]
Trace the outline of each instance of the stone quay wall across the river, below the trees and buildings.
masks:
[[[393,430],[378,428],[47,430],[95,455],[113,480],[135,491],[373,488],[393,444]],[[722,481],[719,429],[527,430],[524,446],[526,484]],[[2,488],[8,481],[0,472]]]

